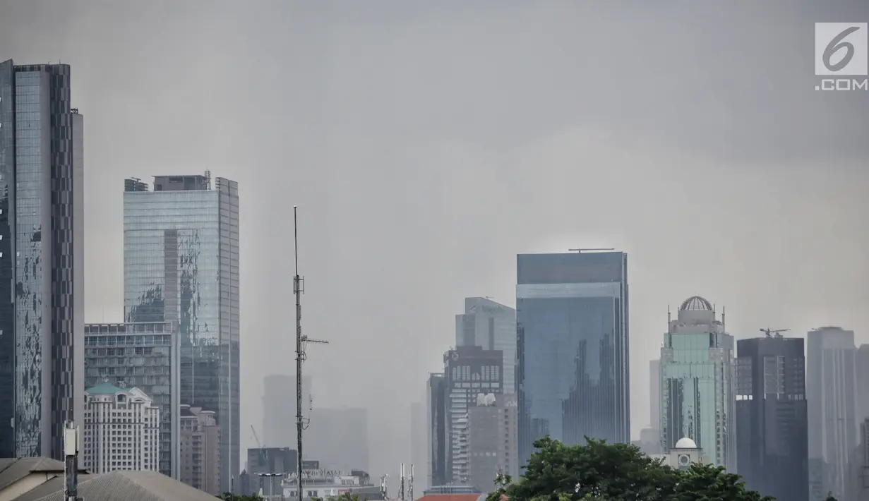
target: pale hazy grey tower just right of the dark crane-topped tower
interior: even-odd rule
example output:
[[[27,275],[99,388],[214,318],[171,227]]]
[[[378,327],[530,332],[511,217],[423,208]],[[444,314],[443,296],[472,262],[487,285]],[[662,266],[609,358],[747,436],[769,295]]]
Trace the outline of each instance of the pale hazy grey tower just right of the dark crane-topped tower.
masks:
[[[834,498],[848,499],[849,458],[858,442],[854,332],[820,327],[808,333],[806,344],[810,498],[832,492]]]

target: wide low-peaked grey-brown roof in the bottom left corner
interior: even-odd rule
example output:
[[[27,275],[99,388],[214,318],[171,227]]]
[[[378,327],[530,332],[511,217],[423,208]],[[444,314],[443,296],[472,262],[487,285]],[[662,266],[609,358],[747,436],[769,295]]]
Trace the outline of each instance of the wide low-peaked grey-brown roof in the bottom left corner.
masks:
[[[156,471],[111,471],[102,475],[82,475],[78,496],[87,501],[215,501],[208,492]],[[54,478],[14,501],[64,501],[63,478]]]

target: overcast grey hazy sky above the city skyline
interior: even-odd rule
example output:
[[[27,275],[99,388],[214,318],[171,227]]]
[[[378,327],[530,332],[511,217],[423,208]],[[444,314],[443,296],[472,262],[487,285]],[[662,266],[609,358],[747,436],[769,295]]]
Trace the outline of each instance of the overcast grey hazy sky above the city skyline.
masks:
[[[85,120],[87,319],[122,320],[122,181],[239,181],[242,446],[293,371],[292,208],[315,406],[370,410],[373,473],[465,296],[515,254],[629,254],[632,427],[667,305],[738,338],[869,342],[869,92],[818,92],[813,23],[865,0],[0,0],[0,60],[70,63]]]

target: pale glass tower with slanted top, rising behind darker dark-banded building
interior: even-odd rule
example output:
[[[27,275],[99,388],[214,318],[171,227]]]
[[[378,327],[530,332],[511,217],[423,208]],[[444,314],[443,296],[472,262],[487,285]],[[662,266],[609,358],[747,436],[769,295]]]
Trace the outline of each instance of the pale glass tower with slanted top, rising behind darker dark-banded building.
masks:
[[[455,315],[455,346],[500,350],[504,392],[515,392],[516,310],[487,298],[465,298],[465,313]]]

